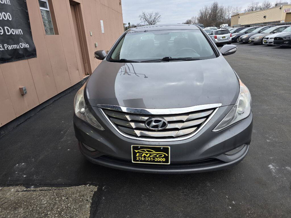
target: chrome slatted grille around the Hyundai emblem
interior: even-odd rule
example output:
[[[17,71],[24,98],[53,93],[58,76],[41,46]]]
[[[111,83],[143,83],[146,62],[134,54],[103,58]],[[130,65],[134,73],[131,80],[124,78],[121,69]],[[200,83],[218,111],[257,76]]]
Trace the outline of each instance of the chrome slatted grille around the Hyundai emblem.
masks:
[[[214,104],[213,106],[221,104]],[[212,105],[210,105],[212,106]],[[115,106],[116,107],[116,106]],[[117,106],[118,107],[118,106]],[[133,108],[131,108],[133,109]],[[136,114],[120,110],[102,109],[104,116],[111,122],[113,127],[117,128],[126,136],[136,139],[179,139],[198,132],[218,108],[209,108],[198,111],[190,111],[179,114]],[[153,109],[155,110],[155,109]],[[157,109],[162,110],[162,109]],[[160,117],[168,122],[163,130],[152,130],[145,126],[148,119]]]

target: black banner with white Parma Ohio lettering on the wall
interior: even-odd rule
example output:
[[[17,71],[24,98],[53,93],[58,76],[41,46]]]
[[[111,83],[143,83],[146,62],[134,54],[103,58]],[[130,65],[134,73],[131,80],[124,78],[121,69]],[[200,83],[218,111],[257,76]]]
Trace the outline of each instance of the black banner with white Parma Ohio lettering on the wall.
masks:
[[[0,64],[35,57],[26,0],[0,0]]]

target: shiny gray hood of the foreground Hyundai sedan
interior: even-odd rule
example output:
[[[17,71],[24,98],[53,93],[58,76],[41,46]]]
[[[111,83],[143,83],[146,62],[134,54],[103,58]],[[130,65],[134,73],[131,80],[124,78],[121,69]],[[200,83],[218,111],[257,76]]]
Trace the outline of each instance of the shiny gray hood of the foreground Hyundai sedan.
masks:
[[[183,108],[235,104],[238,79],[223,56],[207,60],[119,63],[103,60],[88,79],[86,104]]]

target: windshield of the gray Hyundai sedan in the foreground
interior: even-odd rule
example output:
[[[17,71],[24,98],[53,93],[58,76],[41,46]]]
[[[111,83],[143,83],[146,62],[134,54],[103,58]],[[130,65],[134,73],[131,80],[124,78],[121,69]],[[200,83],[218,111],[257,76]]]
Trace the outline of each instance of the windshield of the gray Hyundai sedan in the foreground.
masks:
[[[200,30],[129,32],[118,43],[109,61],[147,61],[171,58],[216,58]]]

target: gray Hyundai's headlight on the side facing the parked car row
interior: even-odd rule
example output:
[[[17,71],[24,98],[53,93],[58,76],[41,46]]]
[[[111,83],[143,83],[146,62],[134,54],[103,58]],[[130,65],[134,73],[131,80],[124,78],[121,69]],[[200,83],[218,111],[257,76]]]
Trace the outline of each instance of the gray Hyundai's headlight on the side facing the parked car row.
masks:
[[[239,80],[239,97],[235,105],[230,109],[228,114],[221,122],[212,130],[220,131],[236,122],[245,119],[251,113],[251,94],[249,89]]]

